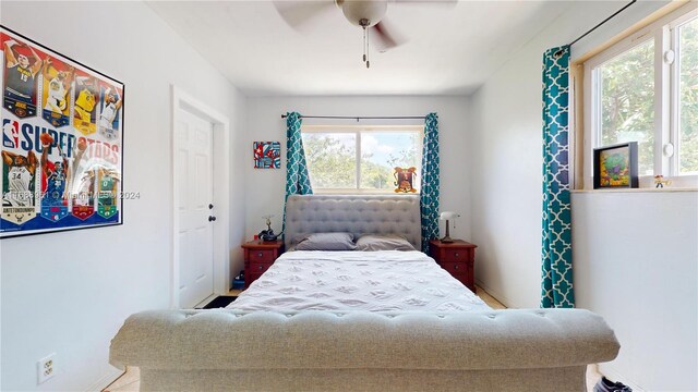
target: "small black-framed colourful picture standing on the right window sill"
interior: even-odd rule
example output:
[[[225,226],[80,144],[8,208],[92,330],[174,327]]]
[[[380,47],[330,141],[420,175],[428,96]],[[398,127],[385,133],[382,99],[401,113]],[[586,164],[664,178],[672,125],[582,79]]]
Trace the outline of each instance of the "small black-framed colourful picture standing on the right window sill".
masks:
[[[593,149],[593,188],[635,188],[637,179],[637,142]]]

